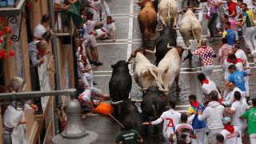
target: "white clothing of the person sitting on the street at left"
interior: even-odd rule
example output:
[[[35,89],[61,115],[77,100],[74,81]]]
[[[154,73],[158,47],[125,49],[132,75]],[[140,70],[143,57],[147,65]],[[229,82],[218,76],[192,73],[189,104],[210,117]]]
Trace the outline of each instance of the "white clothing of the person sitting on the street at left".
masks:
[[[103,26],[101,29],[95,30],[97,35],[105,34],[104,38],[111,38],[111,33],[116,29],[114,22],[107,24],[106,21],[103,22]]]

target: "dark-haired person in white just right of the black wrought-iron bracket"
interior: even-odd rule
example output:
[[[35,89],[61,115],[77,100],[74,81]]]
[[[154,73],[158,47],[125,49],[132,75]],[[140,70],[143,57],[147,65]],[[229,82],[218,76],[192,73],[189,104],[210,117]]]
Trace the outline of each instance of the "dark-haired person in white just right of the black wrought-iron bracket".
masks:
[[[50,15],[48,13],[42,16],[41,22],[34,28],[34,39],[42,38],[46,33],[46,28],[50,26]]]

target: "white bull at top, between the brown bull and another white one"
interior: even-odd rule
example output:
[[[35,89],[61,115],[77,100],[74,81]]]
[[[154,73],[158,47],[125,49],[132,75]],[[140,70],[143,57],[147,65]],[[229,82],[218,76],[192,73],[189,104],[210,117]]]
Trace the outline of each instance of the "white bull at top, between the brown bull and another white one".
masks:
[[[176,27],[178,22],[178,2],[176,0],[161,0],[158,14],[164,26],[173,24]]]

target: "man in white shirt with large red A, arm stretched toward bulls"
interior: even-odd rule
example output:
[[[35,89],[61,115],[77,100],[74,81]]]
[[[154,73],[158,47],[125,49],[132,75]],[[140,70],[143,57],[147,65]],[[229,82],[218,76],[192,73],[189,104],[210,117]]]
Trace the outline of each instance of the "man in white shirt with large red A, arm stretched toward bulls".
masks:
[[[178,111],[174,110],[176,106],[175,101],[169,101],[168,106],[170,107],[170,110],[163,112],[157,120],[142,123],[142,125],[158,125],[163,121],[162,135],[165,138],[166,144],[170,144],[170,134],[174,134],[174,126],[178,125],[182,115]]]

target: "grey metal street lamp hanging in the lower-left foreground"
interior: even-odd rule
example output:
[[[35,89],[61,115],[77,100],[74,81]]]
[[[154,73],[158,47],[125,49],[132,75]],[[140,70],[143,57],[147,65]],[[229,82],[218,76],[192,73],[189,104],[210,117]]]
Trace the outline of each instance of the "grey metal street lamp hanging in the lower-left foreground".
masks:
[[[85,144],[94,142],[98,134],[86,130],[82,125],[81,106],[78,100],[73,99],[66,105],[67,126],[62,134],[54,136],[52,141],[57,144]]]

